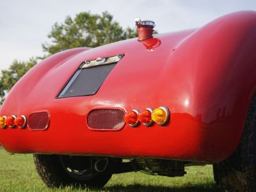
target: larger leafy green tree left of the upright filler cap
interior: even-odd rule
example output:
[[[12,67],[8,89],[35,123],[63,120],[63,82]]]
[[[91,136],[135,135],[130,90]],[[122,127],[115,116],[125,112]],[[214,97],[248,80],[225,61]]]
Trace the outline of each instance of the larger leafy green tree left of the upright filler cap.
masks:
[[[52,26],[48,38],[51,44],[42,45],[47,54],[54,54],[74,47],[99,47],[137,36],[135,29],[123,29],[108,12],[93,15],[82,12],[74,19],[68,16],[64,23]]]

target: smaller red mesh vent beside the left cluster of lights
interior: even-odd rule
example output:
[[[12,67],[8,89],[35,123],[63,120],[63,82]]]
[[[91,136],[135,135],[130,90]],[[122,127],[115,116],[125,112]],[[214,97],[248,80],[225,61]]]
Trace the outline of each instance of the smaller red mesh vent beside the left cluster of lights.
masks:
[[[47,129],[49,120],[47,112],[33,113],[28,118],[28,127],[35,130]]]

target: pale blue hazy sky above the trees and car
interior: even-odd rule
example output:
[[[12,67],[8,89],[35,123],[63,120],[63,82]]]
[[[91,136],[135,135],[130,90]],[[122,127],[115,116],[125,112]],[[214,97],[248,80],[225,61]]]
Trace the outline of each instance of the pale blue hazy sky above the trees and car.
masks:
[[[108,11],[124,28],[134,26],[134,18],[156,22],[159,33],[198,28],[207,22],[239,10],[256,10],[256,1],[186,0],[0,0],[0,70],[13,60],[41,56],[42,43],[54,22],[79,12]]]

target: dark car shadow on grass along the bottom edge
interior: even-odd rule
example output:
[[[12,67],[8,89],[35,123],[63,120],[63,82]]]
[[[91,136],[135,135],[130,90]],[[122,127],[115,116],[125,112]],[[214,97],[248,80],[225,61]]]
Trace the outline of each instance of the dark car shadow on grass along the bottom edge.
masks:
[[[220,192],[221,190],[215,184],[206,184],[206,185],[191,185],[184,187],[166,187],[166,186],[150,186],[150,185],[141,185],[141,184],[132,184],[127,186],[115,185],[104,188],[103,191],[168,191],[168,192]]]

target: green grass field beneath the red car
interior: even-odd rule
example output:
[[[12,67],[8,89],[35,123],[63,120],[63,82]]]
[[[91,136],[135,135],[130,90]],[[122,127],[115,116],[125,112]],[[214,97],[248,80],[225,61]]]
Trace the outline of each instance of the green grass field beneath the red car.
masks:
[[[113,175],[100,191],[218,191],[212,179],[212,166],[191,166],[184,177],[161,177],[143,173]],[[49,189],[36,173],[31,154],[11,155],[0,148],[0,191],[91,191]]]

